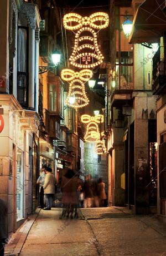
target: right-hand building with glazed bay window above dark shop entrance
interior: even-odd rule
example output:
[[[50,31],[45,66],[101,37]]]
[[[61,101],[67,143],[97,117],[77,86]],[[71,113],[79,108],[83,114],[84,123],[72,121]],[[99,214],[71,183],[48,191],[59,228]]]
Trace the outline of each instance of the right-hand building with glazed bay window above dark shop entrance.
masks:
[[[129,44],[122,29],[126,15],[132,21],[139,4],[111,1],[108,204],[128,205],[136,214],[148,214],[157,211],[156,96],[151,65],[157,46]]]

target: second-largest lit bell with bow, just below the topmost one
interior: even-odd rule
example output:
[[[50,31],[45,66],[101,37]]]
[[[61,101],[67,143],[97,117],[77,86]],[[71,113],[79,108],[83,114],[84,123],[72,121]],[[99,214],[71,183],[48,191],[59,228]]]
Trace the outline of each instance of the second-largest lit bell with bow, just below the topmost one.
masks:
[[[66,105],[79,108],[89,104],[89,99],[86,96],[84,83],[93,75],[91,70],[85,69],[80,72],[74,72],[66,68],[61,72],[61,78],[69,83],[69,92],[66,98]],[[75,98],[75,101],[71,101]]]

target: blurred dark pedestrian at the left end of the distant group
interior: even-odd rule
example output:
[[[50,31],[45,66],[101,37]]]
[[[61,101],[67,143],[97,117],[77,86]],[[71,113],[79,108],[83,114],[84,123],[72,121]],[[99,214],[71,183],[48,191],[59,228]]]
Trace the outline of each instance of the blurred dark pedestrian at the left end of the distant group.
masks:
[[[84,182],[84,208],[90,208],[92,206],[92,184],[91,184],[91,175],[86,175]]]

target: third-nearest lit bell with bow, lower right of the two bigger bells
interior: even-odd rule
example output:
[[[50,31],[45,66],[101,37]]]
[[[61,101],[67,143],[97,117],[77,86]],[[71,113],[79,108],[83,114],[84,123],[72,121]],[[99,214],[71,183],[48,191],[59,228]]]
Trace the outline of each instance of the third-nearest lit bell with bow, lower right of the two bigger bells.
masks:
[[[100,138],[98,124],[101,124],[103,122],[103,115],[82,115],[81,122],[87,124],[86,134],[84,136],[85,141],[96,142],[96,140]]]

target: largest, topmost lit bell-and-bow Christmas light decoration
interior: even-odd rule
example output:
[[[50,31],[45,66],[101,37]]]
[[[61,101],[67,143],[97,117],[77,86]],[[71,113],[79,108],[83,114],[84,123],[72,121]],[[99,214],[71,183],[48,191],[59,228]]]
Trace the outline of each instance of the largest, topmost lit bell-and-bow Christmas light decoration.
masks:
[[[109,23],[108,14],[96,12],[90,17],[82,17],[77,13],[65,14],[63,24],[66,29],[78,30],[75,34],[75,45],[69,58],[71,65],[79,68],[94,68],[103,62],[98,48],[97,32],[94,29],[106,28]]]

